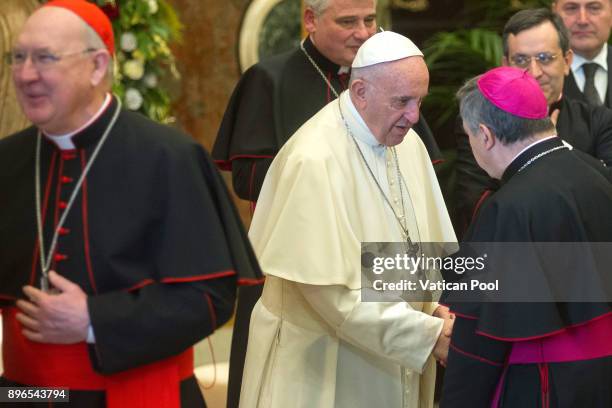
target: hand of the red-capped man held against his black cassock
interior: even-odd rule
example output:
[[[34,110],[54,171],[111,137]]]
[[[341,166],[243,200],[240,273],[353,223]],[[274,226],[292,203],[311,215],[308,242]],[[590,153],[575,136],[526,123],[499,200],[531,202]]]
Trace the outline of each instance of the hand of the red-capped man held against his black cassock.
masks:
[[[18,300],[17,320],[23,325],[23,335],[39,343],[72,344],[87,339],[89,312],[87,295],[68,279],[49,272],[49,283],[59,291],[50,294],[33,286],[23,293],[29,301]]]

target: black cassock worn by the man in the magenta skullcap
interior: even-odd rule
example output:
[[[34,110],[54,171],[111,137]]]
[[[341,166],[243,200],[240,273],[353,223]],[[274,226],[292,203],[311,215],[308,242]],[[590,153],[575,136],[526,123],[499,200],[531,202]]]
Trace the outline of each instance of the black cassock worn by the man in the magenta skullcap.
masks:
[[[612,241],[612,178],[601,162],[583,152],[561,148],[545,153],[559,146],[563,146],[559,138],[546,140],[510,164],[501,188],[483,204],[465,241]],[[540,153],[544,154],[519,172]],[[445,278],[456,280],[457,275]],[[459,282],[470,278],[466,273]],[[612,298],[612,293],[607,295]],[[498,385],[501,407],[612,406],[610,355],[583,361],[507,363],[521,341],[561,335],[597,319],[607,318],[612,333],[611,303],[469,303],[457,296],[446,291],[441,299],[457,313],[441,408],[489,407]]]

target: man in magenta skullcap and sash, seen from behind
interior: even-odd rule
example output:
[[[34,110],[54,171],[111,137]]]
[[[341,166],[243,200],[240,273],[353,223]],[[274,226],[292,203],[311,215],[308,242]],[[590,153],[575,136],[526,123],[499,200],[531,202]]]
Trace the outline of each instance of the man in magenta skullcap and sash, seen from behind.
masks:
[[[612,241],[612,177],[599,160],[557,137],[544,94],[528,72],[495,68],[458,95],[476,161],[501,182],[465,241]],[[608,272],[597,277],[609,282]],[[529,273],[516,275],[532,283],[556,276],[586,281],[601,271],[542,266]],[[445,278],[457,276],[469,282],[474,274]],[[551,302],[495,302],[495,293],[488,301],[463,302],[460,292],[444,292],[441,303],[456,319],[440,407],[612,406],[612,290],[599,291],[605,297],[590,297],[591,303],[558,301],[555,293]]]

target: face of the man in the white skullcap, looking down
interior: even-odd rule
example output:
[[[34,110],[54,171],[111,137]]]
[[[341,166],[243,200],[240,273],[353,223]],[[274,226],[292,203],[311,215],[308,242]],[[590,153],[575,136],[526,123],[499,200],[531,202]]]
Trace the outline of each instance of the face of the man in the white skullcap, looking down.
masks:
[[[375,83],[367,83],[363,117],[378,142],[395,146],[419,120],[427,95],[429,72],[421,57],[388,63]]]

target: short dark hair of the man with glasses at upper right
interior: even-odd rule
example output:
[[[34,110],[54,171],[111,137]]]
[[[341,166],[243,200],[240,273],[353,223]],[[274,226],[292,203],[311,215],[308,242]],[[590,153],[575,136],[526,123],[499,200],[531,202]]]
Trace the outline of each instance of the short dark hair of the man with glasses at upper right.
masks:
[[[553,13],[547,8],[539,8],[521,10],[510,17],[502,33],[504,56],[508,57],[508,37],[510,34],[518,35],[521,31],[537,27],[547,21],[550,22],[555,28],[555,31],[557,31],[559,48],[563,51],[563,55],[567,54],[570,48],[569,32],[563,24],[563,20],[561,20],[558,14]]]

